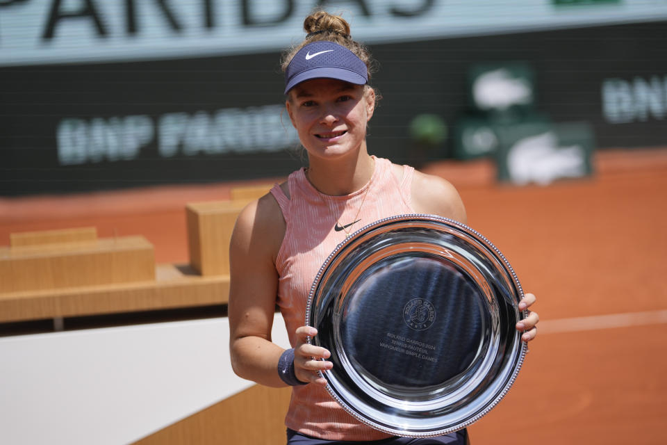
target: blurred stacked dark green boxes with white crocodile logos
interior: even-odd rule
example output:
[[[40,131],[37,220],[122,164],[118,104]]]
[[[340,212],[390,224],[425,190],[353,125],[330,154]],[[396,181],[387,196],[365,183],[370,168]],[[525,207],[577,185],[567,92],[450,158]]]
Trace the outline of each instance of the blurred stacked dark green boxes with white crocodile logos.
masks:
[[[527,63],[484,63],[468,72],[469,108],[452,131],[454,157],[491,157],[500,181],[549,184],[592,172],[595,138],[586,122],[556,123],[538,109]]]

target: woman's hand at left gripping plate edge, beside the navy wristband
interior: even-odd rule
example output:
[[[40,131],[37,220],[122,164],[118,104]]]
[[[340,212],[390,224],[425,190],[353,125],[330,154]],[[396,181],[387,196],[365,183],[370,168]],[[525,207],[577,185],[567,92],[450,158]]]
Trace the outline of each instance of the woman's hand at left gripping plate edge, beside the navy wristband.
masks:
[[[297,344],[294,348],[294,373],[301,382],[327,386],[327,379],[320,377],[317,371],[326,371],[334,364],[326,359],[331,357],[329,350],[308,343],[308,337],[315,337],[318,330],[312,326],[298,327]]]

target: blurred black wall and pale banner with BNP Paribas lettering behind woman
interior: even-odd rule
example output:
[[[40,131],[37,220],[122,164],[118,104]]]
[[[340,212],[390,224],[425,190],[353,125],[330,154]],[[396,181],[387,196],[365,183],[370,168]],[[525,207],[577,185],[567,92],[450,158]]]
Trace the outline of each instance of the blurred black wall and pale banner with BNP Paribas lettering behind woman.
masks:
[[[313,6],[344,10],[379,60],[374,154],[454,157],[479,63],[525,64],[532,107],[591,125],[597,147],[667,140],[660,1],[4,1],[0,195],[286,175],[281,49]],[[415,159],[413,118],[445,129]]]

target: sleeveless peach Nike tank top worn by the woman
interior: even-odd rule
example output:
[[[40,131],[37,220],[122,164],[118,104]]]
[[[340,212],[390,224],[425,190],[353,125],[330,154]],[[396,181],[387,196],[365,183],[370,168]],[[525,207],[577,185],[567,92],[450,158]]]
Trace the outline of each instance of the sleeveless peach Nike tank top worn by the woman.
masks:
[[[288,178],[290,198],[278,185],[271,189],[286,221],[285,237],[276,261],[277,302],[292,345],[295,330],[306,321],[308,293],[315,275],[329,254],[345,240],[345,230],[352,234],[382,218],[414,213],[411,206],[413,173],[412,167],[404,165],[402,178],[398,179],[390,161],[376,158],[368,184],[350,195],[329,196],[318,192],[306,179],[303,169]],[[336,230],[339,222],[343,226],[352,225]],[[285,423],[303,434],[328,440],[365,441],[388,437],[347,414],[326,389],[316,385],[293,387]]]

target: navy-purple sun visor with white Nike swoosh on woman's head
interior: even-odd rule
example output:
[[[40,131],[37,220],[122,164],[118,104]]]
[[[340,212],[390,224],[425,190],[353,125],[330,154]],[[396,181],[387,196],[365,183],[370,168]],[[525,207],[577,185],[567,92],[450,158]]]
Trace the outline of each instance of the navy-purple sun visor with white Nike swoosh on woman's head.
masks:
[[[287,67],[285,94],[297,83],[322,77],[364,85],[368,82],[368,69],[359,57],[338,43],[309,43],[299,49]]]

